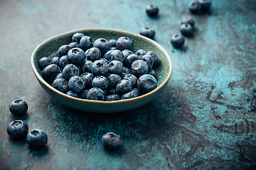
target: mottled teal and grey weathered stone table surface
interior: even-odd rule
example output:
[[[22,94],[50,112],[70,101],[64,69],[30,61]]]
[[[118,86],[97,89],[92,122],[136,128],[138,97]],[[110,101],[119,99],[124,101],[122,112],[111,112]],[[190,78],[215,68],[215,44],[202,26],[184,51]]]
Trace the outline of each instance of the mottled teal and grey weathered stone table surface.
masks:
[[[159,6],[149,18],[148,4]],[[208,13],[191,14],[189,0],[0,1],[0,169],[255,169],[256,1],[213,0]],[[193,36],[174,49],[171,35],[193,16]],[[165,91],[134,111],[96,114],[63,106],[41,88],[31,54],[44,40],[83,28],[156,31],[174,71]],[[17,118],[16,98],[28,103]],[[6,128],[25,120],[48,144],[33,150]],[[102,148],[105,132],[124,141]]]

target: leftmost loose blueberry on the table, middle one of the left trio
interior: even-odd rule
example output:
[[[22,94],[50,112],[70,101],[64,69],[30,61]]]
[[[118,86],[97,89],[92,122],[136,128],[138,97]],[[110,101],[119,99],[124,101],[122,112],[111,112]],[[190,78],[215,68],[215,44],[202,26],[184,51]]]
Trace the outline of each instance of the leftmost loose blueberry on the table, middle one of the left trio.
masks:
[[[14,120],[8,125],[7,133],[13,139],[22,139],[28,134],[28,125],[23,120]]]

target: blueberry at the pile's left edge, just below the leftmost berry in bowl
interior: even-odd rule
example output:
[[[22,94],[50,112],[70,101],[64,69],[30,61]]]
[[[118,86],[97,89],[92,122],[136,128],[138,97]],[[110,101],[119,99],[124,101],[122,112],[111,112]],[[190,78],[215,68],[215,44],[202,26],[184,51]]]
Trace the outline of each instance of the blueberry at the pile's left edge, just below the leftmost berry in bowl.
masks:
[[[42,76],[45,80],[52,80],[59,73],[60,67],[57,64],[50,64],[43,69]]]

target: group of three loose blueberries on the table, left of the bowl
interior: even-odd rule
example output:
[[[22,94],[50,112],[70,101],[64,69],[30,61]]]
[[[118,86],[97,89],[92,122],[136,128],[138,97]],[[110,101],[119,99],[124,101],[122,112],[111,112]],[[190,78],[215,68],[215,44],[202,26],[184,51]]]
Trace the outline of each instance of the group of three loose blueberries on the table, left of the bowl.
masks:
[[[22,116],[28,111],[28,104],[26,101],[17,99],[11,102],[9,110],[16,116]],[[34,129],[28,133],[28,125],[23,120],[11,122],[7,128],[7,133],[14,140],[21,140],[26,137],[26,142],[32,149],[39,149],[45,146],[48,140],[46,132],[43,132],[43,130]]]

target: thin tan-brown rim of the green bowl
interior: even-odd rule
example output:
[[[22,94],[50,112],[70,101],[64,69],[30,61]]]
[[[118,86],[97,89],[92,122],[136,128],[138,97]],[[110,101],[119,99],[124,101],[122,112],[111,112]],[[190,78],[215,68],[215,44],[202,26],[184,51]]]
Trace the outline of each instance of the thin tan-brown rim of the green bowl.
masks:
[[[82,99],[82,98],[75,98],[73,96],[68,96],[67,94],[64,94],[60,91],[58,91],[57,89],[53,88],[53,86],[50,86],[50,84],[48,84],[44,79],[43,77],[41,77],[41,75],[39,74],[38,70],[36,69],[36,66],[34,64],[34,57],[36,55],[36,52],[40,49],[40,47],[42,45],[45,45],[46,43],[48,43],[49,41],[51,40],[55,40],[56,38],[58,37],[62,37],[66,34],[74,34],[74,33],[79,33],[79,32],[86,32],[86,31],[93,31],[93,30],[97,30],[97,31],[114,31],[114,32],[117,32],[117,33],[124,33],[124,34],[127,34],[127,35],[132,35],[132,36],[135,36],[135,37],[139,37],[139,38],[144,38],[150,42],[152,42],[154,45],[156,45],[156,47],[159,47],[159,50],[161,50],[162,52],[164,52],[164,55],[166,55],[166,58],[169,62],[169,73],[168,73],[168,76],[166,77],[166,79],[164,79],[164,81],[156,87],[156,89],[154,89],[153,91],[150,91],[149,93],[147,94],[144,94],[142,96],[138,96],[136,98],[128,98],[128,99],[122,99],[122,100],[118,100],[118,101],[95,101],[95,100],[88,100],[88,99]],[[37,79],[39,81],[41,81],[41,83],[44,85],[44,86],[47,86],[48,89],[50,89],[51,91],[54,91],[55,93],[65,97],[65,98],[70,98],[70,99],[73,99],[75,101],[84,101],[84,102],[87,102],[87,103],[105,103],[105,104],[112,104],[112,103],[124,103],[124,102],[129,102],[129,101],[134,101],[134,100],[137,100],[137,99],[140,99],[140,98],[144,98],[146,96],[149,96],[151,94],[154,94],[156,91],[158,91],[159,89],[161,89],[161,87],[163,87],[166,83],[168,83],[170,77],[171,77],[171,74],[173,72],[173,62],[171,60],[171,56],[169,55],[169,53],[164,49],[164,47],[162,47],[161,45],[159,45],[158,42],[154,41],[154,40],[151,40],[150,38],[146,38],[145,36],[143,35],[139,35],[137,33],[132,33],[132,32],[128,32],[128,31],[125,31],[125,30],[117,30],[117,29],[111,29],[111,28],[85,28],[85,29],[79,29],[79,30],[73,30],[73,31],[69,31],[69,32],[66,32],[66,33],[61,33],[59,35],[55,35],[51,38],[48,38],[47,40],[44,40],[43,42],[41,42],[35,50],[33,50],[33,53],[31,55],[31,67],[33,69],[33,73],[36,75]]]

